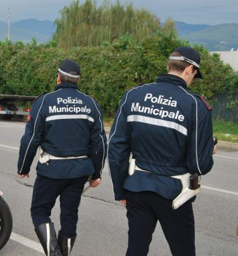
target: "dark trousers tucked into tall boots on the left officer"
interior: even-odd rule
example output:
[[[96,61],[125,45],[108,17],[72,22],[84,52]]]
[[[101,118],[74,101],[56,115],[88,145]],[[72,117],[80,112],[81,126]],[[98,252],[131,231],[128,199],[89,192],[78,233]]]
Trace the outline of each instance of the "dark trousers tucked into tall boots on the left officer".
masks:
[[[60,234],[76,236],[78,206],[88,176],[74,179],[51,179],[37,175],[32,195],[32,220],[34,226],[51,222],[51,210],[60,196]]]

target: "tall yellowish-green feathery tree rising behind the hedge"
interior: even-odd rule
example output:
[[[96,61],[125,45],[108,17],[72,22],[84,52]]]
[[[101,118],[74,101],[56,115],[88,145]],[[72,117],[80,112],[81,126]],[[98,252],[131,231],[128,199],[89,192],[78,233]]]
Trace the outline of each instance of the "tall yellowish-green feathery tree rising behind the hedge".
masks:
[[[99,46],[109,43],[125,34],[136,42],[161,30],[160,19],[146,9],[135,9],[132,4],[112,4],[105,0],[97,7],[96,0],[73,1],[69,7],[60,11],[56,19],[56,32],[53,39],[60,48],[74,46]],[[166,30],[169,30],[166,27]]]

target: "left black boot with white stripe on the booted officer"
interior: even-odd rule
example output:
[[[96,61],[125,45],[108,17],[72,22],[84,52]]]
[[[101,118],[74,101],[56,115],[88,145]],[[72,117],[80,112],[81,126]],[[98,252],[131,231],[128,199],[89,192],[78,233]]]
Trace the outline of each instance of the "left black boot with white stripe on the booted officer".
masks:
[[[62,256],[53,223],[40,224],[35,231],[47,256]]]

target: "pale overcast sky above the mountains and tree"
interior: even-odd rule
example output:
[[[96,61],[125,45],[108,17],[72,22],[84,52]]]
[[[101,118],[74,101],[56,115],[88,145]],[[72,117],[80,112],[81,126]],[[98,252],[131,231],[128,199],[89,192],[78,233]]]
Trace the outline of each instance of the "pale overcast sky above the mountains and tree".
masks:
[[[100,5],[102,1],[98,0],[97,3]],[[128,2],[152,11],[161,22],[172,17],[175,21],[188,24],[238,23],[238,0],[121,0],[121,3]],[[54,21],[59,16],[59,10],[70,5],[71,0],[0,0],[0,3],[1,17],[5,7],[9,7],[13,13],[12,22],[29,18]]]

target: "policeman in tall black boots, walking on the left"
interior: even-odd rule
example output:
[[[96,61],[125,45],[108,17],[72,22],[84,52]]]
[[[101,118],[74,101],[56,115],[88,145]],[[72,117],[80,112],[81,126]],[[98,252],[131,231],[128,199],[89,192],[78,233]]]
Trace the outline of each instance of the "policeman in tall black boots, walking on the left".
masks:
[[[40,146],[40,161],[32,196],[32,220],[46,255],[69,255],[76,239],[78,206],[84,184],[101,183],[107,138],[99,103],[78,90],[80,67],[64,60],[55,91],[32,105],[19,149],[18,175],[29,177]],[[58,241],[50,220],[60,196]]]

